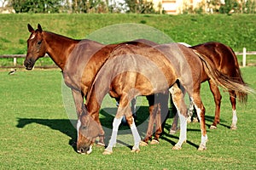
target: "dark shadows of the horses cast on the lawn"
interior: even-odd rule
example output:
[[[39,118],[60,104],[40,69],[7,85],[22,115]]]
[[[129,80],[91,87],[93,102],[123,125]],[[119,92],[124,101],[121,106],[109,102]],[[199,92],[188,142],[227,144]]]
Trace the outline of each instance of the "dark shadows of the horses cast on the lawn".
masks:
[[[109,114],[109,111],[112,111],[113,114]],[[101,118],[100,121],[102,122],[102,127],[105,129],[108,129],[105,131],[105,144],[108,144],[108,140],[111,136],[111,132],[112,132],[112,122],[113,122],[113,118],[115,115],[115,108],[107,108],[105,110],[101,111]],[[172,116],[169,116],[169,118]],[[212,119],[213,120],[214,117],[212,116],[206,116],[206,119]],[[70,137],[70,141],[69,144],[73,147],[73,150],[76,151],[76,141],[77,141],[77,131],[76,128],[74,127],[74,125],[76,124],[77,120],[69,120],[69,119],[38,119],[38,118],[17,118],[17,122],[18,124],[16,125],[16,127],[19,128],[23,128],[26,127],[26,125],[32,124],[32,123],[37,123],[40,125],[44,125],[47,127],[50,127],[51,129],[60,131],[61,133],[66,134],[68,137]],[[138,111],[137,111],[137,128],[139,133],[141,134],[141,136],[145,136],[146,134],[146,130],[148,127],[148,107],[147,106],[141,106]],[[143,128],[140,128],[142,125],[144,124]],[[165,128],[167,129],[167,131],[169,132],[171,125],[166,124]],[[228,126],[227,126],[228,127]],[[110,130],[109,130],[110,129]],[[188,129],[188,131],[198,131],[200,132],[200,129]],[[131,134],[131,130],[130,127],[128,127],[127,125],[120,125],[119,127],[119,134]],[[163,133],[160,137],[160,139],[164,139],[167,142],[169,142],[172,145],[175,145],[176,142],[174,142],[172,139],[178,139],[177,136],[168,134],[168,133]],[[128,147],[131,148],[131,144],[125,144],[124,141],[118,140],[118,143],[120,144],[124,144]],[[187,141],[188,144],[191,144],[192,146],[195,146],[196,148],[198,148],[197,144],[194,144],[190,141]]]

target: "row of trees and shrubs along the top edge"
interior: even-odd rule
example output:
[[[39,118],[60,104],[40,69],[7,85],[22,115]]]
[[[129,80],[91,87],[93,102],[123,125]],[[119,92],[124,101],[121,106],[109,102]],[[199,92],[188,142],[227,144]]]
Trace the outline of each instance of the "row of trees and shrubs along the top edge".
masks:
[[[138,13],[155,14],[153,1],[147,0],[3,0],[16,13]],[[224,2],[224,3],[220,3]],[[202,13],[202,8],[212,6],[210,13],[255,14],[255,0],[207,0],[199,8],[187,8],[184,14]],[[207,11],[209,12],[209,11]]]

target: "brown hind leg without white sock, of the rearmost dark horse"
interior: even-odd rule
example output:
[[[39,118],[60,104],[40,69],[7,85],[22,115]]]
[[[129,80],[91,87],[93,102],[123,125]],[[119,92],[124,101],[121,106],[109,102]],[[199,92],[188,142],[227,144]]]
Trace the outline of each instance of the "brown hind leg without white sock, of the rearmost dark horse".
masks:
[[[220,120],[220,103],[222,97],[219,92],[218,86],[214,82],[212,82],[212,80],[209,80],[208,82],[215,102],[215,117],[210,129],[216,129],[217,124],[219,123]]]

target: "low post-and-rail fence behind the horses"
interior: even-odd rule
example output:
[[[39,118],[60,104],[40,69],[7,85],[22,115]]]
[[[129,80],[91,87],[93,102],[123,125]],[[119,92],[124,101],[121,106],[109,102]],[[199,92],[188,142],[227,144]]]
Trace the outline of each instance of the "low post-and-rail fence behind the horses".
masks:
[[[256,51],[247,51],[246,48],[243,48],[242,52],[235,52],[236,55],[242,55],[242,66],[246,66],[246,59],[247,55],[256,55]],[[47,54],[45,57],[49,57]],[[5,54],[5,55],[0,55],[0,59],[14,59],[14,66],[15,67],[20,67],[17,66],[17,59],[18,58],[26,58],[26,54]],[[1,68],[12,68],[13,66],[0,66]],[[52,66],[38,66],[38,68],[56,68],[55,65]]]

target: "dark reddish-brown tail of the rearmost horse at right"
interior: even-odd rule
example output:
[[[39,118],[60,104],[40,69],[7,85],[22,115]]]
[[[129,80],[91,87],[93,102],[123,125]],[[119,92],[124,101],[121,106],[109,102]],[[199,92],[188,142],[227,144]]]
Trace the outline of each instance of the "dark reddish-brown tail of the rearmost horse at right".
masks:
[[[234,60],[235,60],[235,65],[236,65],[236,72],[234,73],[234,79],[236,79],[238,82],[240,82],[241,84],[247,86],[247,83],[243,81],[242,77],[241,77],[241,71],[239,69],[239,64],[238,64],[238,61],[237,61],[237,57],[236,57],[236,54],[235,52],[233,51],[232,48],[230,47],[227,47],[229,50],[230,50],[230,54],[232,54]],[[242,91],[235,91],[236,93],[236,96],[238,97],[239,101],[242,103],[242,104],[246,104],[247,103],[247,93],[244,93]]]

